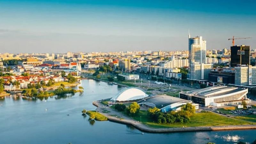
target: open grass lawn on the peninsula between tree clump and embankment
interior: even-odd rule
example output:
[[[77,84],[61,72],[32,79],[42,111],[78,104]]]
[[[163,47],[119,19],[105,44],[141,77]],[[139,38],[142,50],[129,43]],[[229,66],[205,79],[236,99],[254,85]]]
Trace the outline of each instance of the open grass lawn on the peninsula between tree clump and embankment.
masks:
[[[245,122],[239,119],[231,119],[226,116],[220,116],[218,114],[212,112],[206,113],[196,113],[191,117],[191,121],[189,123],[174,123],[174,124],[160,124],[152,121],[151,118],[148,117],[147,111],[140,110],[137,116],[133,118],[137,121],[140,121],[143,124],[146,124],[150,127],[156,128],[166,128],[166,127],[196,127],[196,126],[223,126],[223,125],[245,125],[245,124],[255,124],[253,122]]]

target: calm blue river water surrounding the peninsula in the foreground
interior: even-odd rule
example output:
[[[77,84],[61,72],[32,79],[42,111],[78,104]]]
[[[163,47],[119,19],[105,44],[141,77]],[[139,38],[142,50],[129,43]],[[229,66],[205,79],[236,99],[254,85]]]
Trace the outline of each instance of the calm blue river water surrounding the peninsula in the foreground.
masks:
[[[7,96],[0,99],[0,143],[17,144],[162,144],[206,142],[252,142],[256,130],[147,133],[141,135],[136,128],[109,121],[90,123],[82,116],[83,108],[95,110],[92,101],[115,96],[124,89],[94,80],[82,80],[78,86],[84,93],[55,96],[45,99],[22,99]],[[78,87],[77,86],[77,87]],[[75,87],[75,88],[77,88]],[[206,138],[210,138],[207,140]]]

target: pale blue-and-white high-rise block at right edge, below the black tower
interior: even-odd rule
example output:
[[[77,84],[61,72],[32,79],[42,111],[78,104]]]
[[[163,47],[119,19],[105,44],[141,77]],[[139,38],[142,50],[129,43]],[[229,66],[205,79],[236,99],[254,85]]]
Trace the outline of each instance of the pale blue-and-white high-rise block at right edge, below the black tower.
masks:
[[[236,85],[256,85],[256,66],[235,67]]]

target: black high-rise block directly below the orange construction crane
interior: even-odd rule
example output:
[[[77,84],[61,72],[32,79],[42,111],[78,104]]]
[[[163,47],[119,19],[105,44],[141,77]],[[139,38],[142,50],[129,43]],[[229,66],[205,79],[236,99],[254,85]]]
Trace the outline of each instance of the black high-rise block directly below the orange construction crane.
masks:
[[[231,46],[231,61],[230,66],[236,67],[237,65],[250,65],[250,46],[236,45]]]

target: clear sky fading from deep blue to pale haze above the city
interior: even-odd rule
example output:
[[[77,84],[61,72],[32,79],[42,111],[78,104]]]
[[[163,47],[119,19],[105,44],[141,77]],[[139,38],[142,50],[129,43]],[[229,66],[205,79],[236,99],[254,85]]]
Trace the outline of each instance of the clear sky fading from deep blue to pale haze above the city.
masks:
[[[0,0],[0,53],[256,49],[254,0]]]

